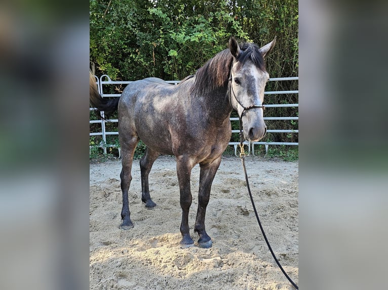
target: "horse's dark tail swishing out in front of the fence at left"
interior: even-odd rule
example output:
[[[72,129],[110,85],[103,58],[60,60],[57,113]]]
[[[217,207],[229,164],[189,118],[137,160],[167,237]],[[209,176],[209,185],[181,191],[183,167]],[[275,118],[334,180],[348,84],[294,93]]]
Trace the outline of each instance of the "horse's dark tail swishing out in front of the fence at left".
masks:
[[[96,110],[97,116],[99,116],[101,119],[104,119],[101,117],[100,112],[104,111],[105,116],[112,114],[114,111],[117,110],[117,108],[119,106],[120,98],[114,98],[113,100],[108,100],[108,99],[102,98],[102,96],[98,92],[96,80],[95,80],[92,72],[90,72],[90,75],[89,75],[89,83],[90,83],[89,102],[94,108],[97,108],[97,110]]]

